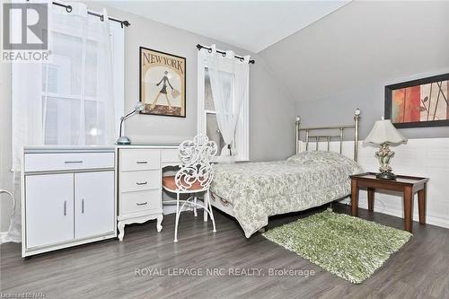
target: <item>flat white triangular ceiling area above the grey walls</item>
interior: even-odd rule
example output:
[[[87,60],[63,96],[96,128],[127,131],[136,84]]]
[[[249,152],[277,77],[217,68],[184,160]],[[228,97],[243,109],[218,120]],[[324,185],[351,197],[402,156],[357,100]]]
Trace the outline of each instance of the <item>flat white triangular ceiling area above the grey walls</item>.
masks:
[[[257,53],[349,1],[133,0],[108,5]]]

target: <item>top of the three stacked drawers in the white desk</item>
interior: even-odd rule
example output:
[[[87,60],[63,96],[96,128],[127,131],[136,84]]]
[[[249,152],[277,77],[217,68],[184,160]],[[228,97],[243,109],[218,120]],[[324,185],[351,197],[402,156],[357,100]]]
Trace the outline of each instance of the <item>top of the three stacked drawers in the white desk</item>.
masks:
[[[120,171],[159,169],[161,152],[150,149],[120,149]]]

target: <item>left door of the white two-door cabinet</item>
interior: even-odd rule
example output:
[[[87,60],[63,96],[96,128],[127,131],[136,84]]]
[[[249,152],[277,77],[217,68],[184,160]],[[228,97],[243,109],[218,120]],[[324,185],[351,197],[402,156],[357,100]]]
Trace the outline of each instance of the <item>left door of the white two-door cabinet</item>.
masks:
[[[25,179],[27,248],[74,239],[74,174]]]

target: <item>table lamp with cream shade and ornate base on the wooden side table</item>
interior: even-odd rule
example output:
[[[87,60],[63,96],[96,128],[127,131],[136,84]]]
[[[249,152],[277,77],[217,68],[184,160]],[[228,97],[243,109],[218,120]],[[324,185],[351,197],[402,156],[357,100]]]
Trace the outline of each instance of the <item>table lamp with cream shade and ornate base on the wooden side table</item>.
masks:
[[[407,143],[407,138],[402,136],[397,128],[392,125],[392,120],[383,119],[377,120],[374,123],[374,128],[364,141],[365,144],[380,145],[381,148],[375,152],[375,156],[379,159],[380,173],[376,174],[377,179],[394,180],[396,175],[392,173],[392,166],[390,161],[394,152],[390,150],[390,145],[400,145]]]

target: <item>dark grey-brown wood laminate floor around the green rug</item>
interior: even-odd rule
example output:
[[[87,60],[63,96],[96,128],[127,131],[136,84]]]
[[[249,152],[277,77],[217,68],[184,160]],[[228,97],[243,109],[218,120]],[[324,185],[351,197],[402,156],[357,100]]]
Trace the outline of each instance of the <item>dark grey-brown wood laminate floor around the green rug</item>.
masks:
[[[313,211],[276,216],[269,227]],[[335,205],[339,213],[349,208]],[[173,243],[173,215],[155,223],[128,226],[124,242],[110,240],[21,259],[20,244],[1,246],[2,295],[35,292],[45,298],[448,298],[449,230],[414,223],[414,236],[373,277],[353,285],[260,233],[246,240],[238,224],[216,211],[217,233],[202,216],[181,217],[180,242]],[[400,218],[360,216],[402,228]],[[136,276],[136,268],[158,268],[164,276]],[[174,268],[200,268],[200,277],[172,277]],[[265,276],[206,276],[207,268],[260,268]],[[310,277],[269,277],[269,268],[314,271]],[[141,273],[144,273],[142,271]],[[257,272],[256,272],[257,273]],[[193,274],[193,273],[192,273]]]

